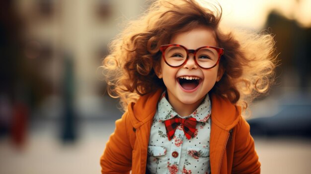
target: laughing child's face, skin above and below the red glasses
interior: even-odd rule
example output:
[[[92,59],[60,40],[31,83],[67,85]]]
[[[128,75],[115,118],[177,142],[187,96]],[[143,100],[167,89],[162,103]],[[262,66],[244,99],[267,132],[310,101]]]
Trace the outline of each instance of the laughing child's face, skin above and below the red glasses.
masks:
[[[193,30],[173,35],[170,44],[180,44],[187,49],[193,50],[202,46],[217,47],[213,30],[204,26],[198,26]],[[195,63],[193,54],[189,54],[188,61],[179,67],[170,67],[161,58],[157,76],[163,78],[168,100],[173,107],[177,106],[180,108],[192,105],[197,108],[204,100],[205,95],[213,88],[216,81],[221,79],[222,73],[218,69],[218,64],[211,69],[200,68]],[[199,78],[199,80],[194,82],[180,80],[181,78],[188,77],[190,79]]]

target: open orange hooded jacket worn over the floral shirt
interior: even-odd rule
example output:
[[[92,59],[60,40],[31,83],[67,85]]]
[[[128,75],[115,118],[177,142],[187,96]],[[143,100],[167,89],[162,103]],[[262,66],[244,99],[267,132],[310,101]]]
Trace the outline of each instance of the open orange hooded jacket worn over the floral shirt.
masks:
[[[145,174],[147,147],[162,91],[141,97],[116,121],[100,158],[102,174]],[[260,163],[240,108],[212,95],[210,163],[212,174],[259,174]]]

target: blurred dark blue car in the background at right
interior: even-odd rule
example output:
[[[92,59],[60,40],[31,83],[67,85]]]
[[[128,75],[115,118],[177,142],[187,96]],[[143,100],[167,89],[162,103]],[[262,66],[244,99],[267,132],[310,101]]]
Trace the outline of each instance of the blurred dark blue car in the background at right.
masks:
[[[256,117],[247,122],[252,136],[311,138],[311,103],[306,100],[293,100],[279,105],[278,112],[272,116]]]

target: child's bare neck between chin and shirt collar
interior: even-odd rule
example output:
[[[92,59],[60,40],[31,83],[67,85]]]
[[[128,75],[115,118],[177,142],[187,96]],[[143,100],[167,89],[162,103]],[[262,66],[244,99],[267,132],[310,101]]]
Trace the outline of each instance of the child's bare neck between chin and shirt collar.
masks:
[[[205,99],[205,96],[204,96],[203,98],[201,98],[200,100],[198,100],[195,103],[184,104],[178,100],[174,100],[173,97],[172,98],[169,98],[169,96],[167,96],[167,97],[168,98],[166,98],[166,99],[168,100],[170,105],[173,107],[173,109],[176,111],[176,113],[179,116],[190,116],[200,106],[200,104]]]

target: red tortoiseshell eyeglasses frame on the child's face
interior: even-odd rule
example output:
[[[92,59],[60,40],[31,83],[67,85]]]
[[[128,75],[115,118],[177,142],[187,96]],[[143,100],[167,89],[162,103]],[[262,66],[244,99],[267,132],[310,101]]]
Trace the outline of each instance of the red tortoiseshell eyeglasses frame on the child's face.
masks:
[[[167,48],[169,48],[169,47],[172,47],[172,46],[179,46],[179,47],[182,47],[182,48],[186,51],[186,53],[187,53],[187,57],[186,57],[185,61],[184,61],[183,63],[181,63],[180,65],[178,65],[178,66],[170,65],[170,64],[166,61],[165,56],[164,56],[164,55],[165,55],[165,50],[166,50]],[[214,49],[214,50],[217,51],[217,53],[218,53],[218,59],[217,59],[217,62],[215,63],[215,65],[213,65],[212,67],[209,67],[209,68],[202,67],[202,66],[199,65],[199,63],[197,62],[195,56],[196,56],[196,54],[197,54],[197,51],[200,50],[200,49],[202,49],[202,48],[212,48],[212,49]],[[165,63],[166,63],[168,66],[170,66],[170,67],[179,67],[179,66],[184,65],[185,63],[187,63],[187,61],[188,61],[188,59],[189,59],[189,54],[192,53],[192,54],[193,54],[193,59],[194,59],[195,63],[196,63],[200,68],[203,68],[203,69],[211,69],[211,68],[215,67],[215,66],[219,63],[220,58],[222,57],[222,55],[224,54],[224,49],[223,49],[223,48],[218,48],[218,47],[213,47],[213,46],[203,46],[203,47],[197,48],[196,50],[192,50],[192,49],[187,49],[185,46],[179,45],[179,44],[161,45],[161,46],[160,46],[160,51],[161,51],[161,53],[162,53],[162,58],[163,58],[163,60],[164,60]]]

